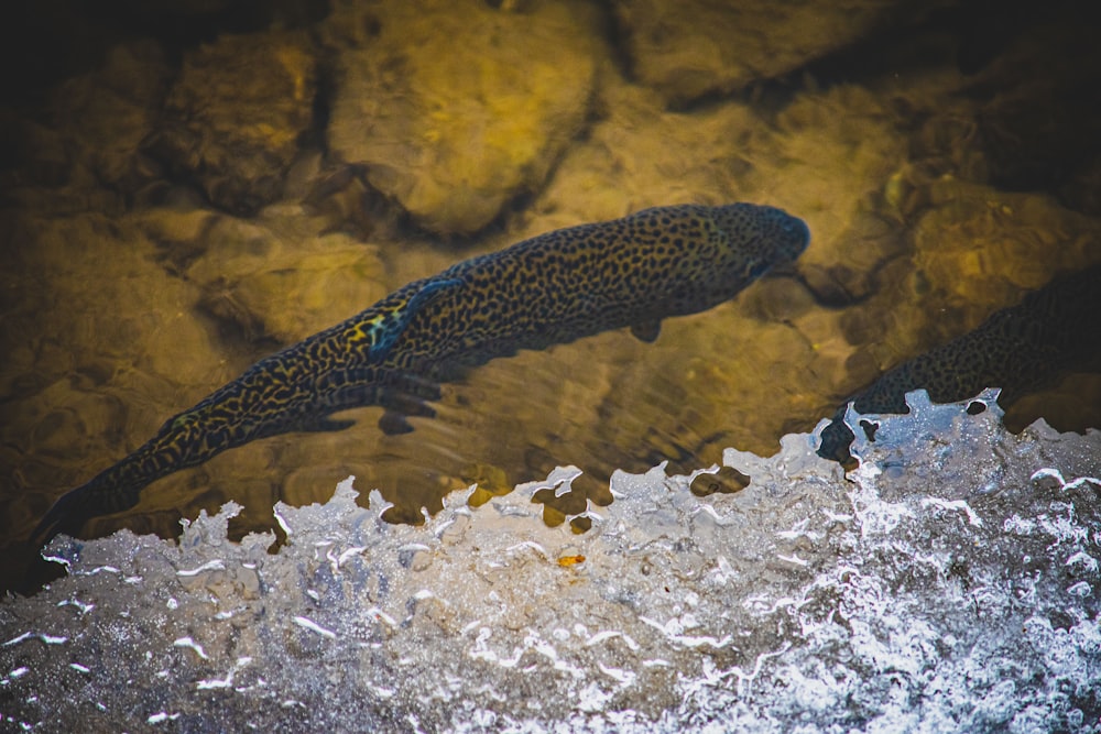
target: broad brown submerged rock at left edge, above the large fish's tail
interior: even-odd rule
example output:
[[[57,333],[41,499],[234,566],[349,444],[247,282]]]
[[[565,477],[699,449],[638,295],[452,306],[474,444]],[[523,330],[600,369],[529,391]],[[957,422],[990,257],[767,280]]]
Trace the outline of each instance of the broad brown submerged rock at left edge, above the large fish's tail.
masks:
[[[9,272],[26,275],[9,282],[0,330],[11,344],[0,363],[10,499],[0,538],[39,514],[40,489],[124,453],[181,395],[231,369],[209,325],[192,317],[198,289],[157,264],[133,218],[21,215],[11,227],[13,242],[33,247],[4,255]]]

